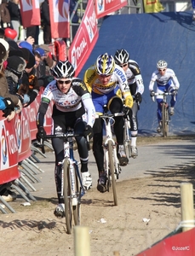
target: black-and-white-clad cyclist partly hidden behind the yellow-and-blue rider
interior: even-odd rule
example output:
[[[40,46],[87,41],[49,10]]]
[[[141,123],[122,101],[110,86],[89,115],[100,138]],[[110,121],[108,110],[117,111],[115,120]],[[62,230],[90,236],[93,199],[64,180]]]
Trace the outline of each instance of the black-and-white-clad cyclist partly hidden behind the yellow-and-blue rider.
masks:
[[[123,67],[129,84],[129,90],[134,98],[134,105],[132,108],[132,118],[130,119],[130,131],[131,131],[131,156],[135,158],[138,155],[136,147],[137,135],[138,135],[138,121],[137,112],[140,109],[140,103],[142,101],[142,94],[144,92],[144,84],[141,76],[141,69],[136,61],[129,60],[129,53],[126,49],[117,49],[114,55],[115,63],[120,67]]]

